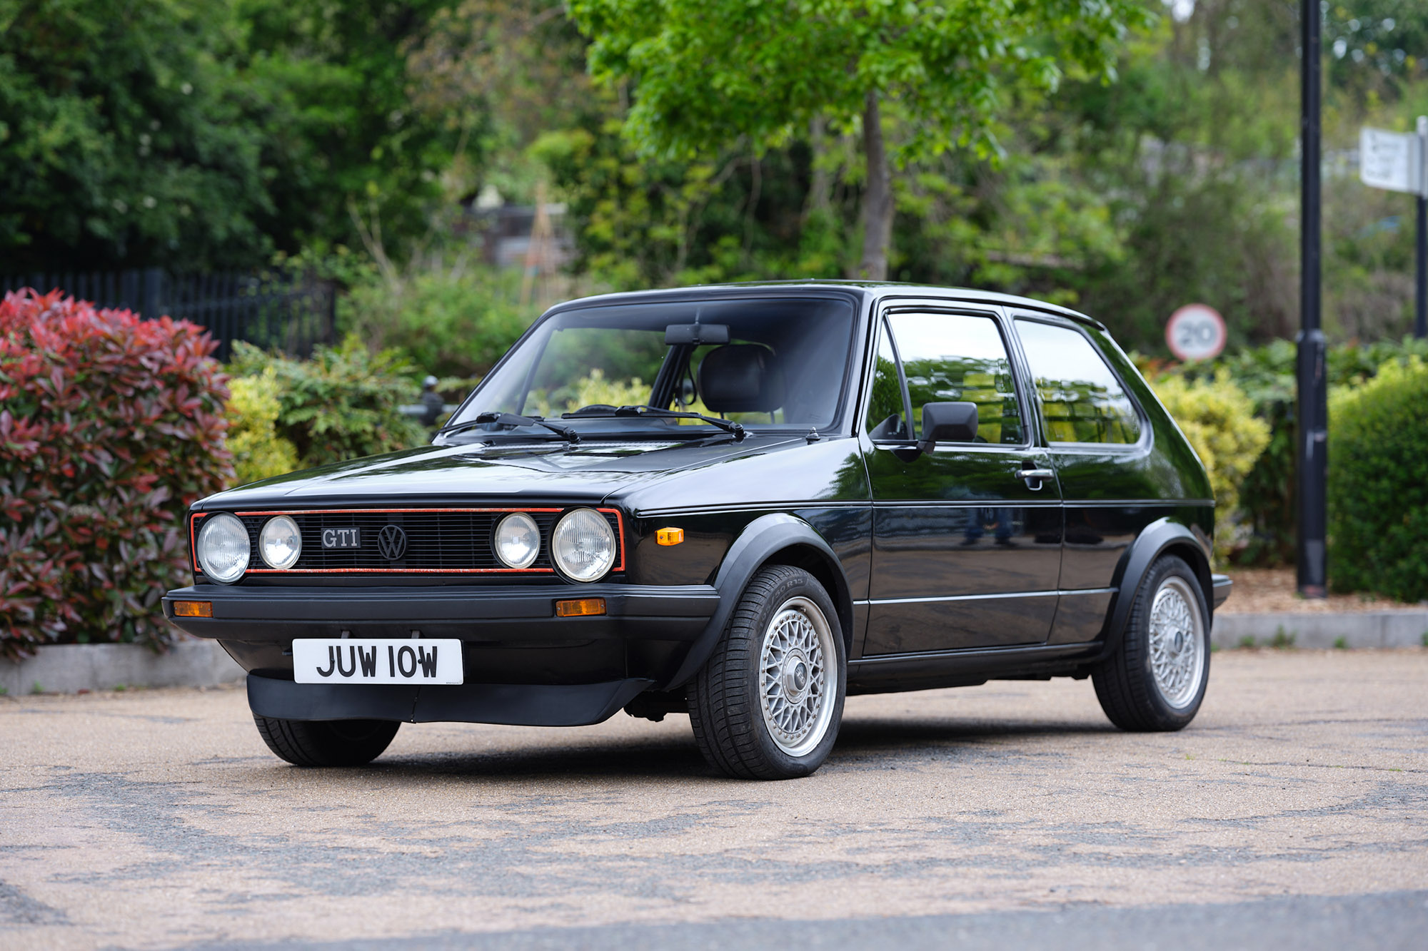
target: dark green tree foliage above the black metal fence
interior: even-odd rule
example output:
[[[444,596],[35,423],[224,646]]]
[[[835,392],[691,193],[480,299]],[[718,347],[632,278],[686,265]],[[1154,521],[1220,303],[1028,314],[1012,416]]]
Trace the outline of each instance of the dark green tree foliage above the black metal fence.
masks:
[[[256,264],[356,244],[354,203],[420,233],[480,123],[411,101],[444,6],[0,1],[3,270]]]

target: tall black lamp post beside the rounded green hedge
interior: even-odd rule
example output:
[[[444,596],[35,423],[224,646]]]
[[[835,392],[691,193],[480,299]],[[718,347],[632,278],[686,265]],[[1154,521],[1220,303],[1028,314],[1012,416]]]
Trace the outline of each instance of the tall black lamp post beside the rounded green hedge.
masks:
[[[1299,594],[1322,598],[1328,583],[1324,551],[1328,523],[1328,381],[1324,378],[1324,330],[1319,320],[1319,0],[1301,0],[1302,87],[1299,94],[1299,307],[1297,376],[1298,508],[1295,545]]]

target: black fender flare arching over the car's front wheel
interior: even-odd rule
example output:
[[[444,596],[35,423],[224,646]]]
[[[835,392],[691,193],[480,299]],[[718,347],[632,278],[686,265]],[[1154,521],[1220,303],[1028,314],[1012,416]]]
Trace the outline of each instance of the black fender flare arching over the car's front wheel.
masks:
[[[843,564],[833,547],[803,518],[783,513],[761,515],[745,525],[734,544],[730,545],[724,561],[720,563],[718,571],[714,574],[714,588],[720,594],[718,608],[694,641],[678,671],[670,678],[670,687],[678,687],[698,673],[704,661],[714,653],[714,645],[724,634],[734,605],[738,604],[744,588],[754,578],[754,573],[771,560],[778,564],[785,563],[777,555],[788,551],[818,558],[823,570],[815,574],[833,580],[834,590],[828,591],[828,597],[833,598],[833,604],[838,610],[838,627],[843,631],[844,648],[851,650],[853,595],[848,593],[848,578],[844,575]],[[800,560],[790,558],[787,564],[800,564]]]

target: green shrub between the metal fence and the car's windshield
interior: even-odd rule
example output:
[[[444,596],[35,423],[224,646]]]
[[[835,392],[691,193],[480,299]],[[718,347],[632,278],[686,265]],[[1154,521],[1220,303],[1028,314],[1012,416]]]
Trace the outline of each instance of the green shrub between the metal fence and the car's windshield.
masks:
[[[373,276],[341,301],[338,323],[373,347],[401,350],[417,373],[478,377],[536,318],[518,293],[516,271],[457,266]]]

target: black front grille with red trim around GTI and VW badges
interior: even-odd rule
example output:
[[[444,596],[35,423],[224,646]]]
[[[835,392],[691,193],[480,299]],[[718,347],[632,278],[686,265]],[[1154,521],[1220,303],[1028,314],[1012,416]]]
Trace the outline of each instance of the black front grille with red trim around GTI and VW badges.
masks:
[[[511,511],[524,511],[540,527],[540,555],[528,568],[508,568],[496,557],[493,537],[496,524]],[[303,573],[353,573],[353,574],[551,574],[550,535],[564,510],[545,508],[360,508],[360,510],[303,510],[303,511],[237,511],[248,530],[251,544],[250,574],[303,574]],[[620,514],[613,508],[601,508],[615,533],[618,554],[615,571],[624,570],[624,538]],[[273,515],[288,515],[303,533],[303,554],[291,568],[270,568],[258,554],[258,531]],[[193,520],[197,534],[204,514]],[[397,525],[406,534],[407,545],[400,558],[387,558],[377,544],[378,533],[386,525]],[[327,528],[357,528],[360,547],[323,548],[323,531]],[[194,560],[194,570],[201,565]]]

